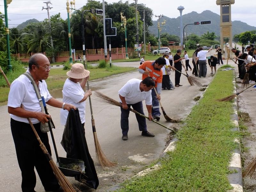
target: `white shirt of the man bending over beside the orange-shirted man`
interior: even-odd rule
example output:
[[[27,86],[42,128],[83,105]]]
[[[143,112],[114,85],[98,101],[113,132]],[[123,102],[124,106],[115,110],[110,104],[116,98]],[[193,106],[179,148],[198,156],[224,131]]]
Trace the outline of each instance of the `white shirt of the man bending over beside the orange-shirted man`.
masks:
[[[140,101],[145,100],[146,105],[152,105],[152,96],[151,90],[140,91],[140,79],[131,79],[129,80],[119,91],[119,95],[125,98],[127,104],[135,104]],[[119,98],[119,102],[122,103]]]

